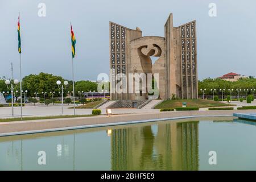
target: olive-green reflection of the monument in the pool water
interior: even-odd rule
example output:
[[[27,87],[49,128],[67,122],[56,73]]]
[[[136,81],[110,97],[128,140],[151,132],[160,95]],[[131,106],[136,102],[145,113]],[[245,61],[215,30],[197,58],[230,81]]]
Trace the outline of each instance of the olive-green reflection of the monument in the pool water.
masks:
[[[198,125],[173,122],[113,130],[112,169],[198,170]]]

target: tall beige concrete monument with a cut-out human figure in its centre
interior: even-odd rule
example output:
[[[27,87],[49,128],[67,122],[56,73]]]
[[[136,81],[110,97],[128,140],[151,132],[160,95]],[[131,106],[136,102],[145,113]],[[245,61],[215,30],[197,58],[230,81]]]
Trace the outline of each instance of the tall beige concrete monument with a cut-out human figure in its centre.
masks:
[[[131,30],[110,22],[110,98],[112,100],[147,100],[142,90],[133,93],[131,74],[158,74],[159,98],[198,98],[196,21],[173,26],[172,14],[164,25],[164,37],[142,36],[140,28]],[[157,57],[152,63],[151,56]],[[119,77],[126,75],[126,80]],[[115,88],[122,81],[122,92]],[[147,84],[148,85],[148,84]],[[147,87],[146,85],[146,87]],[[129,88],[130,87],[130,88]]]

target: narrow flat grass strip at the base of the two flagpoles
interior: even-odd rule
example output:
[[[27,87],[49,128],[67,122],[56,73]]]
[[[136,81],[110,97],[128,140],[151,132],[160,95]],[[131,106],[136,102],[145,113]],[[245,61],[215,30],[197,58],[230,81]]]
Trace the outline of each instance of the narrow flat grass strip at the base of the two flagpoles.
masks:
[[[38,119],[57,119],[57,118],[80,118],[80,117],[91,117],[91,116],[96,116],[96,115],[84,114],[84,115],[54,115],[54,116],[45,116],[45,117],[24,117],[22,118],[22,121],[38,120]],[[20,121],[20,118],[0,119],[0,122],[10,122],[10,121]]]

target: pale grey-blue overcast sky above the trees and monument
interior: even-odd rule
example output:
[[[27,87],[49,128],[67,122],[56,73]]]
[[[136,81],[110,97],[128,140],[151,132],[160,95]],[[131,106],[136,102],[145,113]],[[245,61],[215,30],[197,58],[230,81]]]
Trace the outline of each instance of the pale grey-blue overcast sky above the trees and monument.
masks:
[[[39,3],[46,17],[38,16]],[[217,16],[208,15],[216,3]],[[76,35],[75,80],[96,80],[109,73],[109,21],[140,27],[143,36],[164,36],[174,26],[196,19],[199,79],[228,72],[255,75],[256,1],[234,0],[0,0],[0,76],[19,78],[17,20],[20,11],[22,72],[53,73],[71,80],[69,22]]]

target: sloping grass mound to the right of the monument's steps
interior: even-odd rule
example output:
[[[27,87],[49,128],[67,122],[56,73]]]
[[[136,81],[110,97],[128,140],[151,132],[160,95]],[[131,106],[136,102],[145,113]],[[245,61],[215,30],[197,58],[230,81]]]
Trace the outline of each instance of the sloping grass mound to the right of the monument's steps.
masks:
[[[175,107],[182,107],[182,102],[187,102],[187,107],[218,107],[218,106],[233,106],[231,104],[224,104],[222,102],[193,99],[193,100],[166,100],[155,106],[155,109],[170,109]]]

